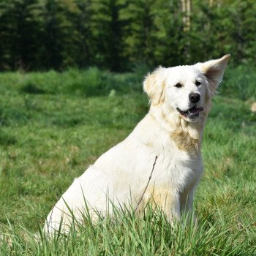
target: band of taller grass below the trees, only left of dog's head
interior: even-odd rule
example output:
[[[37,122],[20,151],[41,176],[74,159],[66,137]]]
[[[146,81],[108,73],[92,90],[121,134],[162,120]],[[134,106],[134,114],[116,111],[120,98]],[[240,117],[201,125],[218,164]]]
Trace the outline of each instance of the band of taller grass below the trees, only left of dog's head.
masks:
[[[1,90],[18,89],[24,94],[72,94],[83,97],[108,95],[111,91],[130,93],[141,91],[142,75],[111,73],[90,67],[86,70],[68,69],[59,73],[31,72],[1,74]]]

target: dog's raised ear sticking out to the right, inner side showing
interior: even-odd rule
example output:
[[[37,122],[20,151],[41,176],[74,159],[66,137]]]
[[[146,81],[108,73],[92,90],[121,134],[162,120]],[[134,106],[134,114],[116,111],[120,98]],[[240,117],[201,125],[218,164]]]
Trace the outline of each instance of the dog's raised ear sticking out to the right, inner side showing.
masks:
[[[230,54],[226,54],[220,59],[212,59],[203,63],[197,63],[195,64],[195,67],[206,76],[211,86],[216,89],[217,85],[222,82],[223,74],[229,59]]]

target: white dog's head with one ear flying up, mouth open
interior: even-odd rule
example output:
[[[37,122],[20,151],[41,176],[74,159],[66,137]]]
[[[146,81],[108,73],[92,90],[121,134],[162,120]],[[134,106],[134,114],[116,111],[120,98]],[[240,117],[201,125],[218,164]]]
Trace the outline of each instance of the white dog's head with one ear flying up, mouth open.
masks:
[[[143,89],[151,105],[165,105],[186,121],[195,122],[222,81],[228,59],[229,54],[191,66],[159,67],[146,76]]]

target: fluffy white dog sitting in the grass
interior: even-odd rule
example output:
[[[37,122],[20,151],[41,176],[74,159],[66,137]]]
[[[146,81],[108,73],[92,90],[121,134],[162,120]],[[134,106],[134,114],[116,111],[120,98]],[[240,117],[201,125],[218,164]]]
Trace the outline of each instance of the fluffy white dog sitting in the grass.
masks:
[[[203,171],[203,125],[228,59],[230,55],[192,66],[159,67],[148,74],[143,83],[151,102],[148,114],[124,141],[75,178],[50,211],[45,231],[53,233],[60,222],[68,230],[71,215],[81,219],[85,205],[93,219],[95,211],[111,214],[112,204],[132,209],[139,204],[139,212],[148,200],[170,222],[189,211]]]

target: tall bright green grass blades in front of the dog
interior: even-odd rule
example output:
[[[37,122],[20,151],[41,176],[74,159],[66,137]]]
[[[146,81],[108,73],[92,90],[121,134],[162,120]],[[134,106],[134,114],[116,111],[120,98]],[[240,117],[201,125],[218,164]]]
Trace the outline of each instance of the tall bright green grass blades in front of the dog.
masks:
[[[42,232],[37,239],[23,228],[9,226],[1,239],[5,255],[252,255],[255,252],[255,229],[223,221],[210,224],[203,216],[198,224],[193,216],[183,216],[171,226],[157,208],[146,206],[140,216],[114,210],[115,218],[100,217],[97,223],[84,219],[83,225],[71,224],[69,233],[58,230],[50,238]],[[75,228],[74,228],[75,227]],[[21,231],[21,232],[20,232]],[[254,234],[249,236],[248,234]]]

